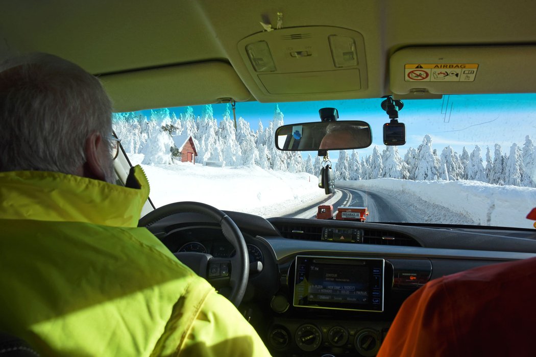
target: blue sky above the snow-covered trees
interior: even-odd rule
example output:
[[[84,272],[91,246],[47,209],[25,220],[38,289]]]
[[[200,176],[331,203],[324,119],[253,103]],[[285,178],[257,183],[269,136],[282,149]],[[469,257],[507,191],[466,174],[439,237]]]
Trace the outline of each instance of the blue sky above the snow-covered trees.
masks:
[[[286,102],[278,103],[284,114],[285,124],[319,121],[318,109],[337,108],[339,120],[364,120],[373,129],[373,145],[360,149],[361,156],[369,155],[374,145],[383,149],[383,124],[389,122],[381,109],[381,98],[366,100]],[[236,103],[236,117],[248,120],[256,130],[259,119],[267,126],[273,119],[276,103],[244,102]],[[218,121],[226,109],[226,104],[213,104],[214,117]],[[184,108],[170,108],[178,116]],[[193,107],[196,116],[203,105]],[[142,112],[146,116],[151,111]],[[449,95],[440,100],[405,100],[399,111],[399,121],[406,124],[406,145],[399,146],[404,155],[407,148],[418,147],[423,136],[431,135],[433,146],[440,153],[450,145],[458,153],[465,146],[472,151],[475,145],[482,148],[485,157],[486,146],[492,150],[500,143],[503,153],[509,153],[512,142],[523,145],[525,135],[536,140],[536,94],[490,94],[490,95]],[[306,153],[307,154],[307,153]],[[336,158],[338,153],[330,153]]]

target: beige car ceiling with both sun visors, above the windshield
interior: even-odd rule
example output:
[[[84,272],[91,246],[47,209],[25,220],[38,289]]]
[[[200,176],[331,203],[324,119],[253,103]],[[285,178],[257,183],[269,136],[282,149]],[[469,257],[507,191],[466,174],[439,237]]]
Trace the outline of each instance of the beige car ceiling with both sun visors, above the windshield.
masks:
[[[536,74],[536,2],[530,1],[18,0],[0,6],[0,58],[40,51],[69,59],[99,75],[118,111],[228,99],[534,92],[527,80]],[[282,29],[263,33],[259,22],[277,27],[278,12]],[[354,34],[359,65],[348,72],[316,67],[320,53],[294,58],[287,68],[301,60],[299,71],[259,77],[244,46],[267,39],[273,52],[278,32],[314,34],[312,57],[329,50],[324,35]],[[480,67],[473,82],[404,81],[403,64],[422,62]],[[277,61],[276,67],[284,68]]]

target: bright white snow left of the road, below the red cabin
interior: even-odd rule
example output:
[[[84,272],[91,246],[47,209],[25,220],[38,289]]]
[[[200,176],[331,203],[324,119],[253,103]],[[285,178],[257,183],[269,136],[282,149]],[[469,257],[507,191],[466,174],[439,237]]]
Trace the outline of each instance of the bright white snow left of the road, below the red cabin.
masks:
[[[129,155],[132,164],[143,155]],[[286,214],[325,199],[318,179],[308,173],[267,171],[258,166],[214,168],[191,163],[142,165],[155,206],[197,201],[221,210],[262,217]]]

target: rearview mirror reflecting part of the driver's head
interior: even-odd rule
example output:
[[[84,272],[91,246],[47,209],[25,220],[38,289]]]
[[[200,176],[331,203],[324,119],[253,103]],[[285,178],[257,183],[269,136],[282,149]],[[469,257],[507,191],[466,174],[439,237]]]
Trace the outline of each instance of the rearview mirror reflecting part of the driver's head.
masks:
[[[276,130],[276,147],[284,151],[361,149],[371,143],[370,125],[361,120],[289,124]]]

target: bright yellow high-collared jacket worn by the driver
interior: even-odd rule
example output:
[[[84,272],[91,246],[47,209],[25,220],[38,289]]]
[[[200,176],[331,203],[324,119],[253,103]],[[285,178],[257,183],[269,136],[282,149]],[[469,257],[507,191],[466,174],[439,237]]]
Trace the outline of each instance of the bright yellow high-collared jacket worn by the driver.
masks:
[[[42,355],[269,355],[238,310],[138,228],[149,193],[0,172],[0,331]]]

